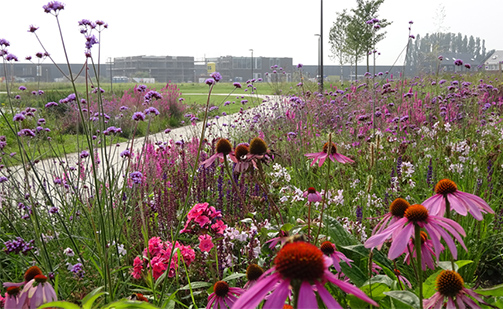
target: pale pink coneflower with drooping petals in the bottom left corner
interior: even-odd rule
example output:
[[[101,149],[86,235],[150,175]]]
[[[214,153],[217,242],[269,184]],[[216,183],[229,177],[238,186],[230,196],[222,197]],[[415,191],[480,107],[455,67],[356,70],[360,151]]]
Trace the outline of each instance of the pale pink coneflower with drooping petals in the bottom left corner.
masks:
[[[38,308],[42,304],[58,300],[54,288],[47,282],[47,277],[44,275],[36,275],[26,283],[21,292],[20,300],[24,294],[27,295],[25,304],[28,308]]]

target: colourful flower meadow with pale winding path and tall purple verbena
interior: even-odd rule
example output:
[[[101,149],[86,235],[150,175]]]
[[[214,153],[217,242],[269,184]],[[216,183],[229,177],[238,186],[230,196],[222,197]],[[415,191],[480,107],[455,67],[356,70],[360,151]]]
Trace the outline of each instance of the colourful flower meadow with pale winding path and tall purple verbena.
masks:
[[[108,93],[108,24],[79,26],[85,88],[5,76],[0,308],[503,308],[501,75],[214,72],[195,107],[171,83]]]

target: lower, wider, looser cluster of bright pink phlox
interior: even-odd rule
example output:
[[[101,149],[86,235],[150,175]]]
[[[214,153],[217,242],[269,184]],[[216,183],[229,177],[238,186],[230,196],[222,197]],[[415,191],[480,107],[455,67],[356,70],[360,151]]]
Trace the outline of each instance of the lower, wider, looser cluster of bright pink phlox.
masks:
[[[173,253],[171,263],[169,263],[172,250],[176,250],[176,252]],[[180,266],[178,265],[178,254],[181,254],[181,262],[185,263],[187,267],[196,258],[196,253],[190,246],[184,246],[177,241],[173,248],[170,241],[163,242],[160,237],[152,237],[148,241],[148,248],[143,250],[143,256],[134,259],[131,275],[135,279],[140,279],[144,268],[147,268],[151,269],[154,280],[157,280],[168,270],[169,263],[168,277],[172,278],[175,276],[178,266]]]

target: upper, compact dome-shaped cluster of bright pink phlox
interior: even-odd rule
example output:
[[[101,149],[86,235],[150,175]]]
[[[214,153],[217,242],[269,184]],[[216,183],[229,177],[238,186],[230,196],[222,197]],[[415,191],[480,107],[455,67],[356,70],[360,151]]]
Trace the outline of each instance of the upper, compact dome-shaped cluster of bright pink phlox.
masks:
[[[222,221],[222,212],[208,203],[194,205],[187,214],[187,221],[180,233],[199,234],[199,231],[209,231],[222,235],[227,225]]]

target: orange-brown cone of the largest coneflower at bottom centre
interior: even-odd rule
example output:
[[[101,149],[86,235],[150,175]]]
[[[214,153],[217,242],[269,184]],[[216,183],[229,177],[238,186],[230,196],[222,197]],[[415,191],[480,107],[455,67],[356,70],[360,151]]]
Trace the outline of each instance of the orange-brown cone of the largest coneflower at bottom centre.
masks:
[[[286,278],[313,281],[323,276],[323,252],[306,242],[286,244],[274,259],[276,270]]]

